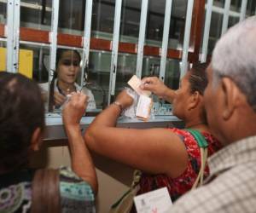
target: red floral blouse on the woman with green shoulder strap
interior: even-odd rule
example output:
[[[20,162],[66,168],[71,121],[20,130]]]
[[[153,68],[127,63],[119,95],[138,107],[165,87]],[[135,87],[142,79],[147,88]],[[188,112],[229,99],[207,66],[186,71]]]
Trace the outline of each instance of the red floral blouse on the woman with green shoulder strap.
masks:
[[[149,175],[143,173],[139,183],[140,190],[137,194],[148,193],[160,187],[167,187],[173,202],[193,187],[201,167],[200,148],[198,147],[194,136],[191,135],[189,131],[179,130],[177,128],[172,128],[170,131],[177,133],[186,147],[189,154],[189,164],[187,169],[184,170],[182,175],[177,176],[176,178],[171,178],[161,174]],[[203,132],[202,135],[205,136],[208,142],[208,156],[216,153],[221,148],[219,141],[217,141],[211,134]],[[208,175],[209,169],[207,166],[204,176],[207,177]]]

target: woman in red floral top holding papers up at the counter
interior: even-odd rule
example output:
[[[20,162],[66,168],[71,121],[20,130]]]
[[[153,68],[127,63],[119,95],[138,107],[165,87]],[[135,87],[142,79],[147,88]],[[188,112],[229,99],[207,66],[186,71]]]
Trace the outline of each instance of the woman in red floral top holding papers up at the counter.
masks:
[[[206,68],[205,64],[194,66],[182,78],[176,91],[168,89],[158,78],[145,78],[143,81],[147,89],[172,102],[173,114],[184,121],[186,129],[201,132],[209,145],[208,154],[212,155],[218,151],[220,143],[208,129],[203,105]],[[86,130],[87,146],[96,153],[143,170],[137,194],[167,187],[172,201],[175,201],[191,189],[198,176],[201,154],[197,141],[186,129],[116,128],[122,109],[131,106],[133,100],[123,91],[116,101],[118,104],[113,103],[102,111]],[[208,172],[207,168],[204,175],[207,176]]]

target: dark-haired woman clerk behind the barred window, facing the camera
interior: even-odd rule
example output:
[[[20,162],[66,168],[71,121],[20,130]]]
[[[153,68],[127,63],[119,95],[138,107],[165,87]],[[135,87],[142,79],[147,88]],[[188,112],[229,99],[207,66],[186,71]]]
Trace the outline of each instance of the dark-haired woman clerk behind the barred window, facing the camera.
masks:
[[[50,83],[49,112],[61,106],[72,92],[82,91],[89,97],[87,110],[96,109],[94,95],[87,88],[81,88],[76,79],[80,72],[81,56],[77,50],[57,49],[56,71]]]

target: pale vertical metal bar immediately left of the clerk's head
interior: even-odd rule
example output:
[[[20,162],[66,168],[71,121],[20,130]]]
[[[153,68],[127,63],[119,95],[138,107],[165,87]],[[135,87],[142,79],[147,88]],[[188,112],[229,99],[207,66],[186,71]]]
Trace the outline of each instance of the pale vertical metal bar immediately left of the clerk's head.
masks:
[[[59,0],[53,0],[51,10],[51,32],[49,32],[49,86],[55,72],[56,50],[57,50],[57,33],[59,20]],[[49,95],[48,95],[49,102]]]

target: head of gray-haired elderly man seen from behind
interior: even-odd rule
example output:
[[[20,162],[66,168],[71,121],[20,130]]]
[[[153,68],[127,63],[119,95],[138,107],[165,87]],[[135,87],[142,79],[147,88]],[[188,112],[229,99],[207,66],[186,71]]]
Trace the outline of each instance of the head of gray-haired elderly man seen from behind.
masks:
[[[256,135],[256,16],[218,41],[207,74],[205,104],[212,133],[224,145]]]

